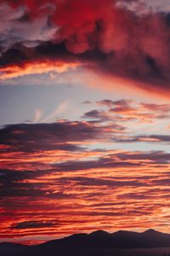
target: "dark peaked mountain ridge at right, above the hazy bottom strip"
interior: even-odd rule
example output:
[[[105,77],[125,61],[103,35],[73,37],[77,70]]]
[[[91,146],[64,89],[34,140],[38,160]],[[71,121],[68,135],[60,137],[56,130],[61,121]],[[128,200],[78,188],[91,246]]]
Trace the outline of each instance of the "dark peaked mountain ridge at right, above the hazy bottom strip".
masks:
[[[146,230],[143,233],[117,231],[108,233],[103,230],[91,234],[77,234],[59,240],[48,241],[42,247],[92,247],[92,248],[153,248],[170,247],[170,235]]]

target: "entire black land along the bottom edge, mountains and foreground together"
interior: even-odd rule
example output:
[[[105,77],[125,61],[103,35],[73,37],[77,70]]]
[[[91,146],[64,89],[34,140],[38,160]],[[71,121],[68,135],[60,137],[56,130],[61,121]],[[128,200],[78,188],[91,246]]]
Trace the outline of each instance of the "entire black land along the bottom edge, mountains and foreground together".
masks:
[[[4,256],[170,256],[170,235],[147,230],[143,233],[99,230],[48,241],[37,246],[1,243]]]

